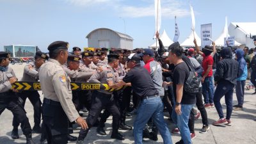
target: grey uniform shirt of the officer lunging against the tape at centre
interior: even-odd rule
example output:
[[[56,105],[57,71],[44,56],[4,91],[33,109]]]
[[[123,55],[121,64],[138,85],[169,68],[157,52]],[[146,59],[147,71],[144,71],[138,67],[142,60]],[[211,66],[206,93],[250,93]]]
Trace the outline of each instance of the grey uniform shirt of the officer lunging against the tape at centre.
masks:
[[[118,73],[113,70],[109,65],[106,65],[102,67],[102,72],[98,70],[95,72],[95,74],[92,75],[92,77],[89,79],[90,83],[106,83],[108,84],[108,81],[113,81],[113,83],[118,82]],[[112,94],[112,92],[107,92],[105,90],[98,90],[102,93]]]

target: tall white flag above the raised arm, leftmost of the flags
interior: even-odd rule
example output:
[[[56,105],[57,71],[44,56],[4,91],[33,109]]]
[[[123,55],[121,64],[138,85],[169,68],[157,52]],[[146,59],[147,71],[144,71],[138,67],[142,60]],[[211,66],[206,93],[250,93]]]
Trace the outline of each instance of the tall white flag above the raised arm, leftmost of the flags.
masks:
[[[155,20],[156,20],[156,32],[161,28],[161,1],[155,0]],[[156,32],[154,38],[156,38]]]

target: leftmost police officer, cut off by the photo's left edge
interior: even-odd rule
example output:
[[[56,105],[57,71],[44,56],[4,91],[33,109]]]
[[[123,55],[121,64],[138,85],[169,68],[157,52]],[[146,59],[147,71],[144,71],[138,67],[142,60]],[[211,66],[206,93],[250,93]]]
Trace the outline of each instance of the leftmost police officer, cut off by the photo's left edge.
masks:
[[[13,89],[14,92],[11,90],[12,84],[17,81],[17,78],[12,68],[8,67],[10,63],[9,58],[9,53],[0,52],[0,115],[6,108],[12,111],[13,117],[15,117],[18,124],[21,123],[21,129],[26,136],[26,144],[31,144],[33,143],[31,137],[32,130],[26,116],[26,111],[15,96],[14,92],[17,92],[17,90]],[[15,129],[15,131],[18,131],[18,129]]]

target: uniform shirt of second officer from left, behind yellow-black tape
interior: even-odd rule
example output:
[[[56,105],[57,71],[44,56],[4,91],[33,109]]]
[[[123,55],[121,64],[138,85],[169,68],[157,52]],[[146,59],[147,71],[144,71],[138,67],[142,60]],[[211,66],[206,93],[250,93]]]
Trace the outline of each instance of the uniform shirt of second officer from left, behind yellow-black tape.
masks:
[[[29,69],[29,65],[33,67],[33,69]],[[30,62],[24,67],[21,81],[38,81],[38,70],[35,67],[35,62]]]

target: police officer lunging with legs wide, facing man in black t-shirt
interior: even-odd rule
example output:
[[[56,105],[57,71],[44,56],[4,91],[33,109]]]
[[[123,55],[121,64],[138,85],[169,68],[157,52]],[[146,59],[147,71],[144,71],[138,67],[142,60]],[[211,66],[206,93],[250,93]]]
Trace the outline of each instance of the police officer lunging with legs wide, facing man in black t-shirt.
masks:
[[[114,83],[117,82],[118,75],[115,74],[113,69],[118,67],[118,61],[119,60],[117,54],[109,54],[108,65],[102,67],[102,72],[97,71],[97,73],[93,74],[89,81],[92,83],[108,83],[108,81],[112,81]],[[97,121],[97,118],[100,115],[100,111],[102,111],[103,108],[106,108],[113,115],[113,131],[111,138],[124,140],[124,136],[118,133],[118,127],[120,124],[120,111],[113,99],[113,93],[107,92],[105,90],[95,90],[93,95],[95,96],[95,99],[93,100],[88,118],[86,118],[86,122],[89,128],[79,132],[77,143],[83,143],[84,138],[86,137],[92,125]]]

